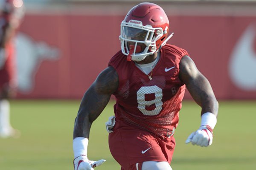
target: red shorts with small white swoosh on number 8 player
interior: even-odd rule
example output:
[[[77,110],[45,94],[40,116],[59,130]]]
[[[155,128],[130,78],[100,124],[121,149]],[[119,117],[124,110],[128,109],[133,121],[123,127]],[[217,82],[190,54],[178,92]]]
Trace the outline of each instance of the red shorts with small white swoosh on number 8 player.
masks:
[[[109,148],[121,170],[137,170],[136,164],[144,161],[172,161],[175,139],[160,139],[153,134],[116,121],[108,136]],[[138,166],[138,165],[137,165]]]

